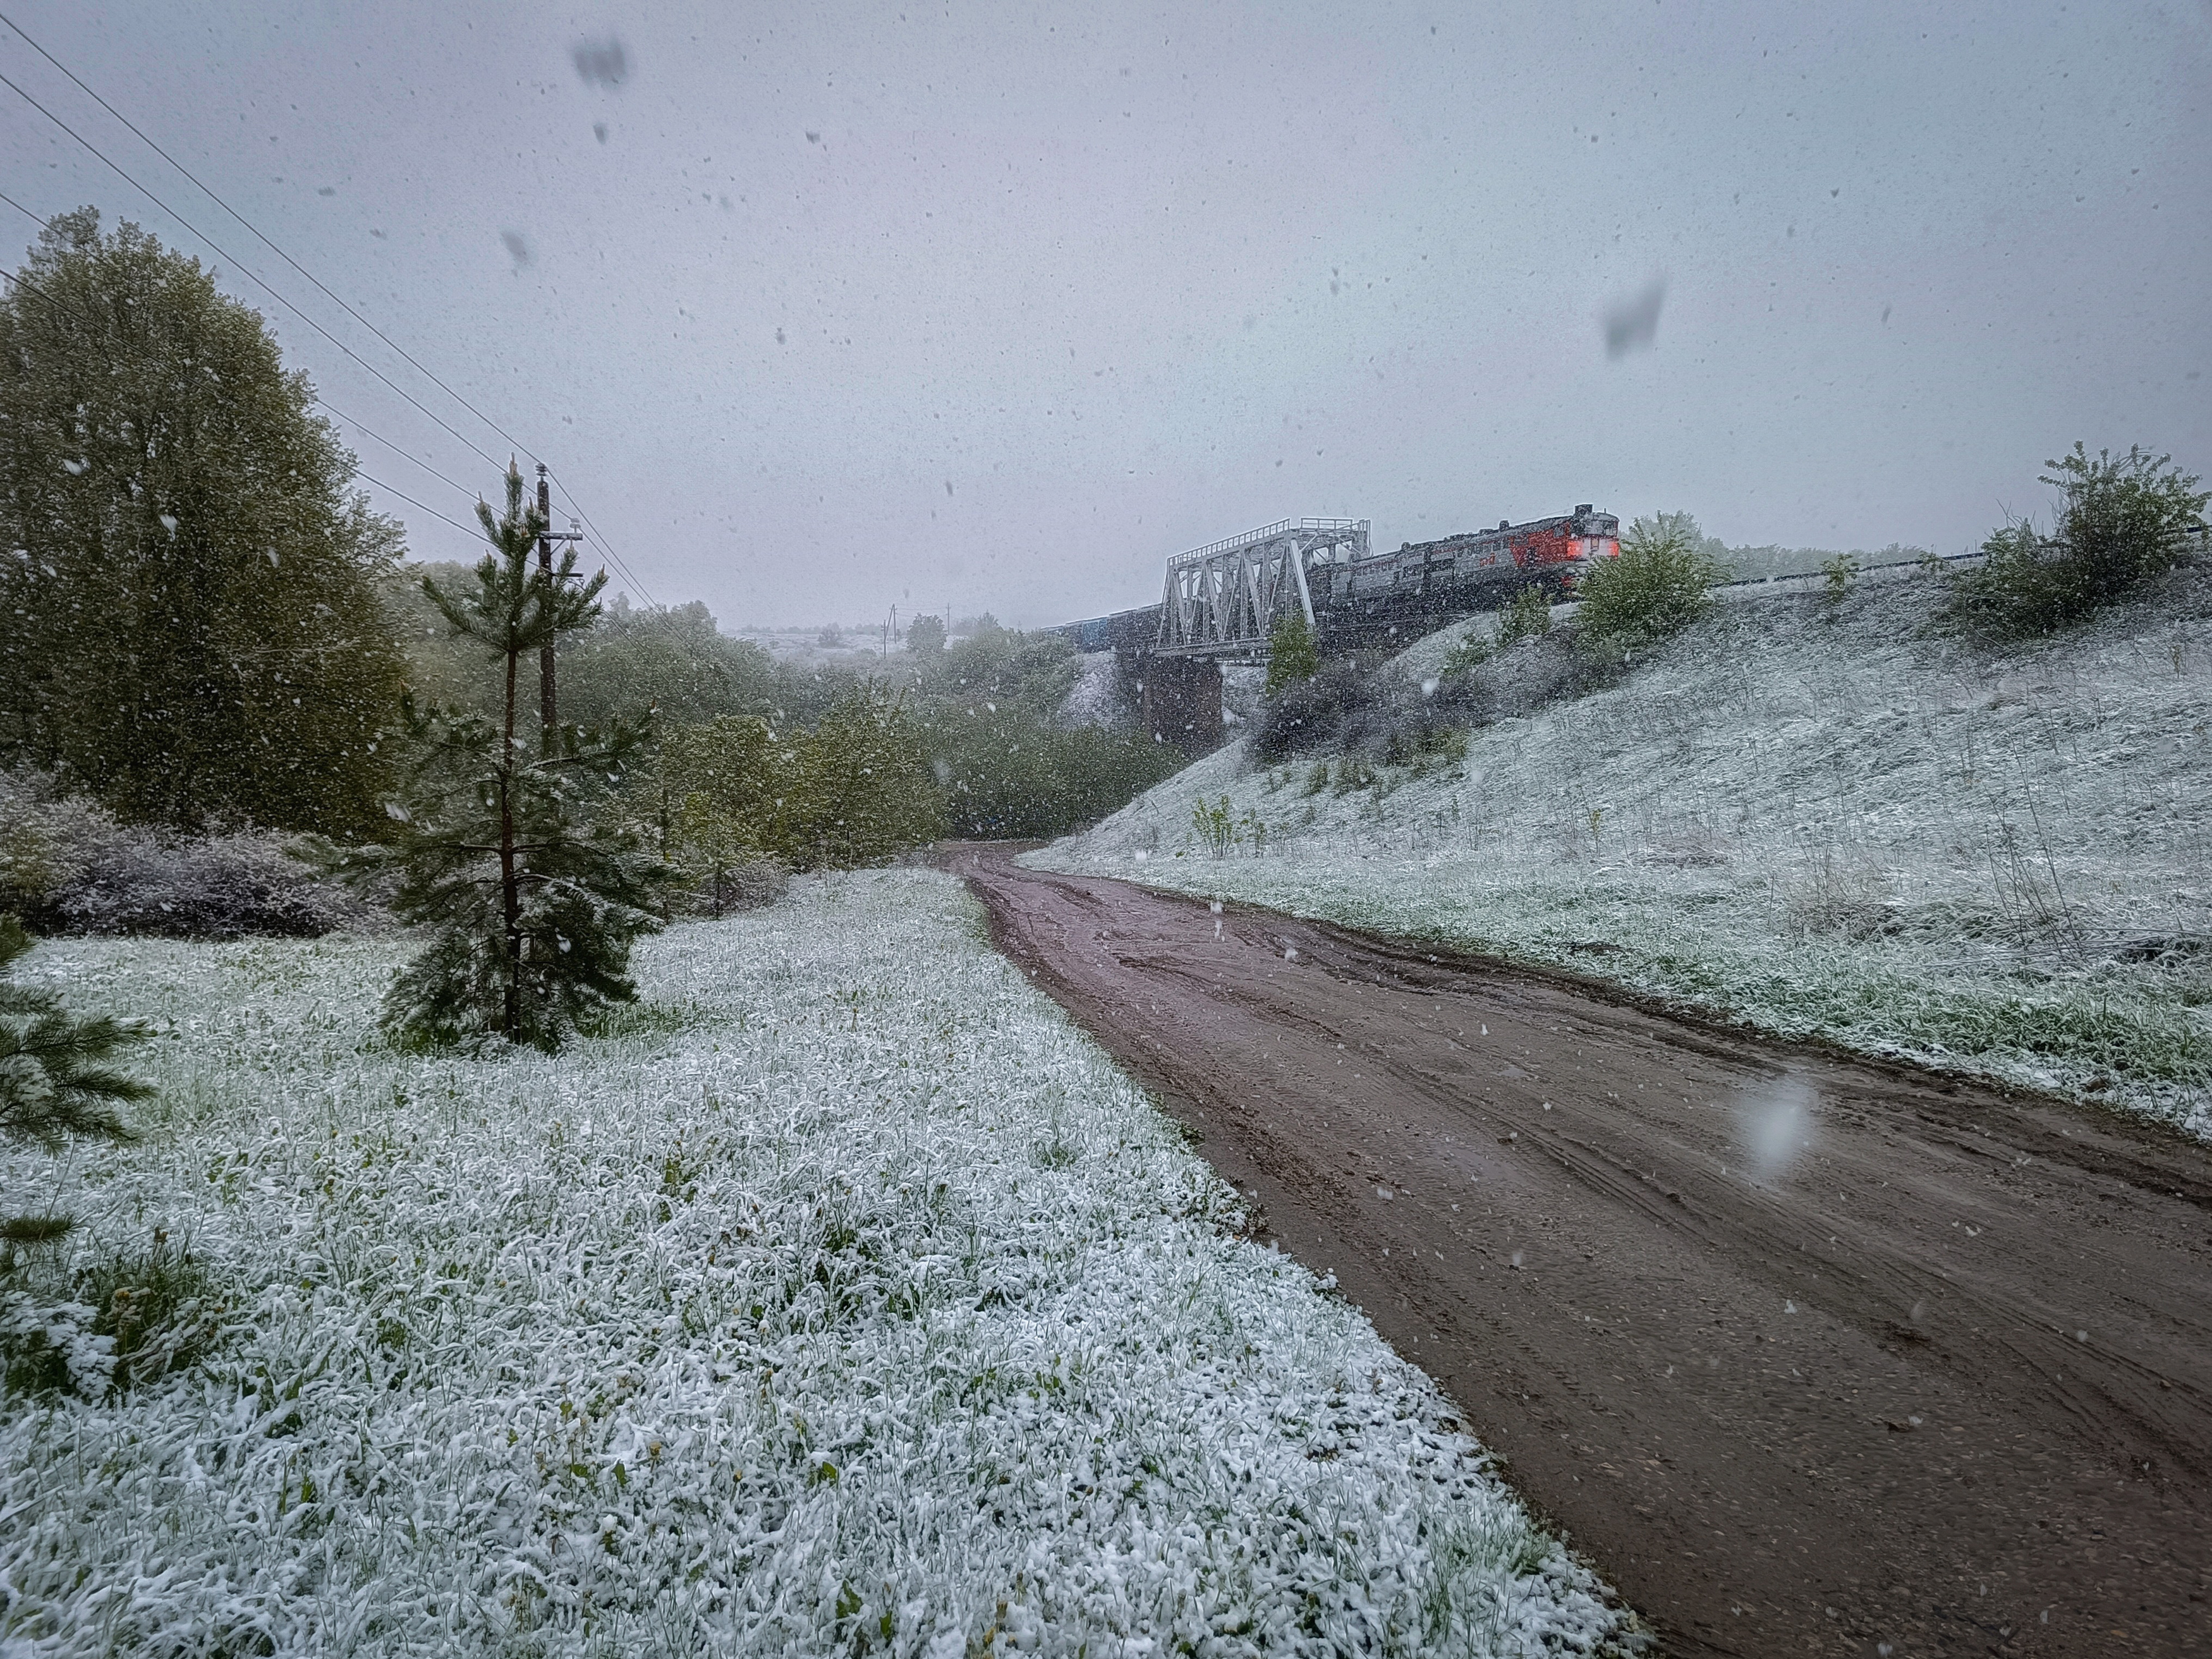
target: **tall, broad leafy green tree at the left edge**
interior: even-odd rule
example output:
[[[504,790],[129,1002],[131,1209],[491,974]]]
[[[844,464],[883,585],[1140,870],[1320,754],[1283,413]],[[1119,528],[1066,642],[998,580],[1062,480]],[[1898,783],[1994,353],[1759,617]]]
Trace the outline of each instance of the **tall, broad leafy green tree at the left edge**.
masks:
[[[0,296],[0,759],[148,823],[376,821],[400,531],[312,398],[199,261],[40,234]]]

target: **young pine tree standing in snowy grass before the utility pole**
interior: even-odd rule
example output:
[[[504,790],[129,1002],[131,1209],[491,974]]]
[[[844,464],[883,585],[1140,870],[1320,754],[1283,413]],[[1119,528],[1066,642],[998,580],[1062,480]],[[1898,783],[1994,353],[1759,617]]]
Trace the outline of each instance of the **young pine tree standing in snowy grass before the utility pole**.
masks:
[[[462,641],[500,675],[495,719],[405,701],[416,763],[392,845],[354,865],[367,878],[398,869],[394,909],[436,929],[385,995],[385,1029],[451,1046],[507,1037],[553,1053],[608,1002],[633,1002],[630,942],[659,927],[661,872],[613,814],[593,814],[646,737],[644,721],[599,730],[518,732],[522,661],[599,613],[606,573],[573,584],[575,553],[531,568],[546,522],[507,473],[507,513],[478,502],[491,553],[476,588],[422,591]],[[535,726],[535,721],[533,721]]]

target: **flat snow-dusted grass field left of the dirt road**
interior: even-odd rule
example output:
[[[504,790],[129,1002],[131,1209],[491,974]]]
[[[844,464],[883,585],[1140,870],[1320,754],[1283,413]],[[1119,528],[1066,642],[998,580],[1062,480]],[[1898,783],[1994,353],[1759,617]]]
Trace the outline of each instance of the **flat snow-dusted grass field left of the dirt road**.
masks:
[[[9,1152],[11,1208],[124,1276],[159,1230],[221,1329],[0,1411],[0,1650],[1632,1639],[949,878],[653,938],[644,1004],[557,1060],[380,1046],[403,949],[27,958],[157,1022],[161,1095],[137,1146]]]

